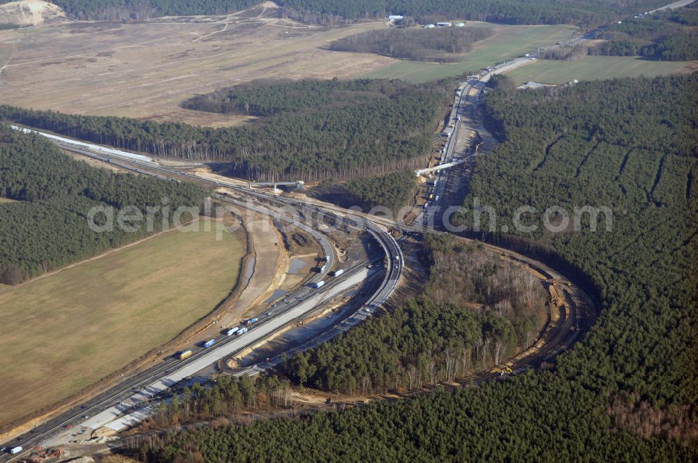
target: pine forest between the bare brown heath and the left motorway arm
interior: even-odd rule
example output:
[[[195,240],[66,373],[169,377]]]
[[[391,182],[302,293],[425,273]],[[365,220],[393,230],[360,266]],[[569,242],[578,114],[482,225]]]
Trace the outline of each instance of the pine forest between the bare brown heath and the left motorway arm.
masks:
[[[416,168],[452,99],[450,80],[256,82],[188,100],[192,109],[259,116],[209,128],[0,105],[0,119],[98,144],[186,160],[215,160],[255,181],[352,178]]]

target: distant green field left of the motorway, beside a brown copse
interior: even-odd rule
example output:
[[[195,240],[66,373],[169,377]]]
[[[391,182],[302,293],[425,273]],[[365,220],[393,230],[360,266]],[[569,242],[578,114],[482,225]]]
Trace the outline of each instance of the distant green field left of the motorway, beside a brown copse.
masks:
[[[577,28],[568,25],[556,26],[502,26],[477,23],[468,27],[491,26],[493,36],[475,44],[473,51],[466,53],[459,63],[436,64],[417,61],[400,61],[380,68],[364,77],[405,79],[411,82],[426,82],[443,77],[456,77],[473,70],[492,66],[515,56],[522,56],[537,47],[558,43],[574,35]]]

